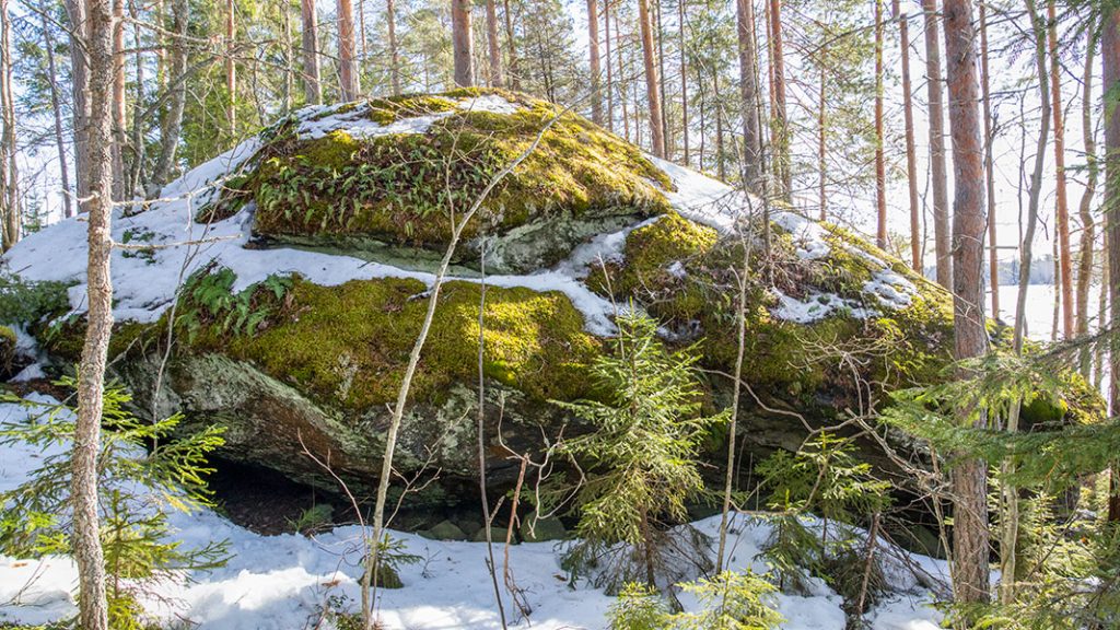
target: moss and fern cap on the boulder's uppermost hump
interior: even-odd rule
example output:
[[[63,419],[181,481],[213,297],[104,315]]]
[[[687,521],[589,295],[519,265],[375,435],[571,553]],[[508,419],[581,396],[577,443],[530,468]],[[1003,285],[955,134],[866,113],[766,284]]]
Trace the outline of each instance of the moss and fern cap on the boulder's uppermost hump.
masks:
[[[395,120],[447,111],[455,98],[459,92],[379,100],[371,112]],[[467,239],[484,229],[502,234],[556,216],[648,216],[669,209],[657,186],[671,188],[671,180],[636,147],[543,101],[507,98],[522,109],[458,110],[426,133],[356,140],[335,131],[299,139],[290,126],[262,149],[244,187],[230,195],[255,198],[254,230],[265,237],[361,234],[390,245],[439,249],[451,233],[451,216],[559,117],[489,194],[484,212],[465,230]]]

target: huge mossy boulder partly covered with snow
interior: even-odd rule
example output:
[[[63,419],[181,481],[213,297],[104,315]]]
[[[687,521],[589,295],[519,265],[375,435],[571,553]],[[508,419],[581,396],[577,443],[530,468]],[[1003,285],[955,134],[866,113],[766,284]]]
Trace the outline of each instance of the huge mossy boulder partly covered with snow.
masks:
[[[616,308],[694,345],[706,404],[729,405],[744,265],[740,433],[758,455],[949,365],[949,294],[888,253],[791,209],[764,225],[752,197],[578,115],[475,90],[301,110],[118,216],[118,241],[153,249],[114,253],[115,376],[146,415],[225,425],[227,458],[334,489],[329,462],[367,489],[452,221],[531,147],[482,198],[440,293],[394,462],[440,481],[413,501],[474,495],[479,365],[497,490],[511,454],[579,430],[551,401],[601,396],[588,368]],[[58,369],[84,332],[84,230],[63,222],[3,258],[20,286],[68,295],[69,313],[20,317]],[[1071,378],[1032,413],[1086,420],[1098,404]]]

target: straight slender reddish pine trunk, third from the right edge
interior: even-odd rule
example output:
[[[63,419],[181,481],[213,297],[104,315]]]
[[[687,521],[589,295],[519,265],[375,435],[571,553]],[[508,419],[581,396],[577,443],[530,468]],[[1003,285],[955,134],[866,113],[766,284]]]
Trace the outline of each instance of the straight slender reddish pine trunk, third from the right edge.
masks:
[[[1057,214],[1058,260],[1062,266],[1062,333],[1073,337],[1073,262],[1070,248],[1070,204],[1065,189],[1065,121],[1062,111],[1062,75],[1057,49],[1057,9],[1046,3],[1049,18],[1051,114],[1054,117],[1054,194]]]

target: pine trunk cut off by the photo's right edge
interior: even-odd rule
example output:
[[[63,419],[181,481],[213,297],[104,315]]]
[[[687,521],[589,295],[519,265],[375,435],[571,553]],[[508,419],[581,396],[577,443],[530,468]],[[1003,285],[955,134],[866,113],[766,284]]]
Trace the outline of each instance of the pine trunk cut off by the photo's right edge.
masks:
[[[1116,114],[1120,87],[1120,10],[1105,8],[1101,24],[1101,61],[1104,84],[1101,86],[1107,114],[1104,121],[1104,212],[1109,252],[1109,325],[1120,331],[1120,115]],[[1110,415],[1120,415],[1120,335],[1112,335],[1109,352]],[[1120,521],[1120,466],[1112,466],[1112,495],[1109,520]]]

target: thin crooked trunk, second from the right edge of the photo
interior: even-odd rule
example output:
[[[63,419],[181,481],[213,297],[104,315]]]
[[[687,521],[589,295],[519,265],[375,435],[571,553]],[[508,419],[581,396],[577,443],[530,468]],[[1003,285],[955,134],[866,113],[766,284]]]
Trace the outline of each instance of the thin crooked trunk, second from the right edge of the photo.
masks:
[[[1096,224],[1093,222],[1093,195],[1096,194],[1096,136],[1093,129],[1093,61],[1096,52],[1095,20],[1091,15],[1085,31],[1085,71],[1082,76],[1081,132],[1085,149],[1088,176],[1085,189],[1081,194],[1077,214],[1081,217],[1081,258],[1077,263],[1077,336],[1089,335],[1089,287],[1093,279],[1093,245],[1096,243]],[[1103,324],[1103,322],[1100,322]],[[1081,350],[1081,376],[1088,381],[1092,377],[1092,349]]]

